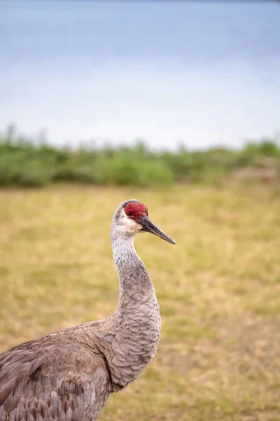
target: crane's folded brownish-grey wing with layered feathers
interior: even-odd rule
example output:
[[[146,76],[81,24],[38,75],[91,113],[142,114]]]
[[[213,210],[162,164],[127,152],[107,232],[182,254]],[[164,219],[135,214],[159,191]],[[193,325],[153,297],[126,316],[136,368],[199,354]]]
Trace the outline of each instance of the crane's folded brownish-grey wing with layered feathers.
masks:
[[[109,391],[104,356],[63,335],[0,355],[1,421],[93,421]]]

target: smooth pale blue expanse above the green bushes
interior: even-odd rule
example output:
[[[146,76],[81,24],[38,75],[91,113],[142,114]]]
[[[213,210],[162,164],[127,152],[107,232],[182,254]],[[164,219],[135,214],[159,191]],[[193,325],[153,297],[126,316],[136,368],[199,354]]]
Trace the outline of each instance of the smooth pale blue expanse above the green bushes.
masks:
[[[0,1],[0,129],[152,147],[280,129],[276,1]]]

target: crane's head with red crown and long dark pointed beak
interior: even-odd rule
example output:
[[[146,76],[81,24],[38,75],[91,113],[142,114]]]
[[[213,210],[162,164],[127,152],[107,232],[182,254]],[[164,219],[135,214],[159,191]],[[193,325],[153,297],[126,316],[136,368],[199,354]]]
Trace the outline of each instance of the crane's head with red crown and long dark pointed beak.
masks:
[[[112,222],[112,228],[119,234],[134,236],[139,232],[150,232],[169,243],[175,241],[148,218],[148,208],[136,199],[120,203]]]

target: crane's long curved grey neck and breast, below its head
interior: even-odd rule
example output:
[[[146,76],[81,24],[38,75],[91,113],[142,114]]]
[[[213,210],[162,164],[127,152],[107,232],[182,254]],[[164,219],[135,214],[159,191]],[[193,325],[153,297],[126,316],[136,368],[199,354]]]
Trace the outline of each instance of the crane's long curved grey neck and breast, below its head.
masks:
[[[120,301],[113,316],[101,322],[105,322],[102,335],[97,328],[95,338],[99,338],[116,392],[136,380],[155,356],[161,322],[155,288],[134,249],[133,237],[112,228],[111,243]]]

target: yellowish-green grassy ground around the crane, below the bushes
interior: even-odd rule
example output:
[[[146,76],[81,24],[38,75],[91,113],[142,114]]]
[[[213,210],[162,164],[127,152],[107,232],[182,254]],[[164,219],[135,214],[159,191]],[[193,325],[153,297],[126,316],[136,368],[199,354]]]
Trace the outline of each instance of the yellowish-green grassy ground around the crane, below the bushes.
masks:
[[[116,309],[109,228],[131,198],[177,244],[135,241],[162,339],[100,420],[280,420],[280,191],[270,185],[1,190],[0,350]]]

